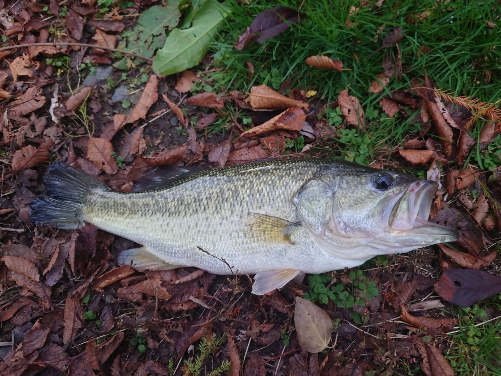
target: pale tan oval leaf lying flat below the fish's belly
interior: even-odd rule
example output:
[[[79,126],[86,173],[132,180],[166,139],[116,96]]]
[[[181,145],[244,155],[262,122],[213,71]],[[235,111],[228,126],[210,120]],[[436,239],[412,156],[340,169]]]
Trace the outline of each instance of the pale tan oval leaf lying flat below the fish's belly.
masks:
[[[320,352],[329,345],[334,327],[329,315],[315,303],[297,296],[294,324],[302,349]]]

